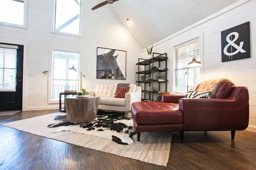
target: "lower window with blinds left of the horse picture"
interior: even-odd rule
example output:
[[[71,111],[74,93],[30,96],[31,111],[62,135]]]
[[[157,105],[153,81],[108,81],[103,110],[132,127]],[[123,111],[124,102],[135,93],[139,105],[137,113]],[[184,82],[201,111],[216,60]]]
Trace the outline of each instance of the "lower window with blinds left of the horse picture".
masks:
[[[59,100],[60,92],[64,90],[79,91],[79,71],[70,70],[80,65],[80,53],[54,49],[52,52],[52,98]]]

